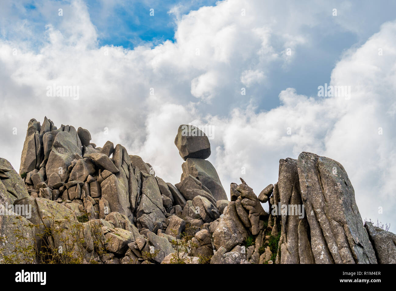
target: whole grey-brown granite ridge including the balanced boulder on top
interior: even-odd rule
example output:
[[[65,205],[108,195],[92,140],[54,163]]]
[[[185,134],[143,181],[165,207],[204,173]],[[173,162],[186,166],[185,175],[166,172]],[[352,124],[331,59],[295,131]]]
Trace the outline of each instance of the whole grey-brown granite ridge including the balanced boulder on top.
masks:
[[[173,185],[122,145],[97,147],[87,129],[30,120],[19,175],[0,158],[0,205],[15,211],[0,215],[3,257],[19,243],[16,229],[34,224],[24,243],[36,251],[67,247],[51,225],[81,229],[72,256],[84,263],[395,263],[396,235],[363,225],[338,162],[308,152],[281,159],[277,183],[257,196],[241,178],[228,201],[206,160],[208,137],[181,125],[175,145],[185,162]],[[18,205],[31,205],[30,215],[17,215]]]

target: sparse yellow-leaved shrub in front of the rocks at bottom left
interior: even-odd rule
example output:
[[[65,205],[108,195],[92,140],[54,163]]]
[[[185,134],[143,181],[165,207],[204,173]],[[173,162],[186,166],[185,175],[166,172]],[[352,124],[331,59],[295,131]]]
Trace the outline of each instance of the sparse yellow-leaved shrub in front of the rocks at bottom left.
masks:
[[[103,260],[106,242],[99,223],[83,225],[69,217],[55,220],[53,215],[43,219],[47,225],[30,223],[15,229],[17,239],[14,242],[8,242],[6,237],[0,238],[0,262],[81,264]],[[28,243],[29,240],[32,243]],[[89,245],[93,245],[93,253],[88,252]]]

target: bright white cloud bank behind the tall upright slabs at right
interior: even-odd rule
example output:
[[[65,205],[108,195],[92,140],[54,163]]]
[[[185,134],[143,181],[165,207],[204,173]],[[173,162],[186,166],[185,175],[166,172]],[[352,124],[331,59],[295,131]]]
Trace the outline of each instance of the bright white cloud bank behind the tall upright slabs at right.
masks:
[[[315,152],[343,164],[363,218],[394,222],[396,131],[395,112],[389,108],[396,102],[395,33],[396,22],[384,24],[337,63],[329,85],[351,86],[350,99],[315,100],[288,88],[280,93],[278,108],[259,114],[236,110],[232,118],[222,120],[224,149],[217,152],[221,172],[231,173],[229,181],[234,181],[240,167],[247,165],[244,177],[259,191],[276,181],[274,156],[297,158],[302,151]],[[379,47],[384,48],[382,56]]]

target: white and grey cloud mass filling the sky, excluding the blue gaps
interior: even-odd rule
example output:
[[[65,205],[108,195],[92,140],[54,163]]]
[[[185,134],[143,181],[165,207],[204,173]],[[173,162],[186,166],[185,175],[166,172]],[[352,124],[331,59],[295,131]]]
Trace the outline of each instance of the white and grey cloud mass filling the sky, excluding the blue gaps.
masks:
[[[395,221],[396,23],[345,51],[330,80],[317,85],[350,86],[350,98],[284,87],[274,96],[277,105],[264,110],[257,103],[267,101],[274,68],[287,70],[299,49],[314,44],[310,28],[323,29],[323,15],[331,17],[326,4],[289,4],[285,11],[276,2],[228,0],[179,13],[175,42],[129,50],[99,46],[86,4],[72,1],[68,17],[48,21],[39,47],[0,38],[1,156],[18,168],[29,119],[46,115],[58,127],[89,129],[98,146],[107,140],[126,146],[177,183],[183,162],[173,144],[177,127],[208,125],[215,137],[209,160],[228,193],[243,177],[258,194],[277,181],[280,158],[310,151],[344,165],[363,218]],[[294,59],[285,54],[291,46]],[[79,86],[80,98],[48,97],[53,84]]]

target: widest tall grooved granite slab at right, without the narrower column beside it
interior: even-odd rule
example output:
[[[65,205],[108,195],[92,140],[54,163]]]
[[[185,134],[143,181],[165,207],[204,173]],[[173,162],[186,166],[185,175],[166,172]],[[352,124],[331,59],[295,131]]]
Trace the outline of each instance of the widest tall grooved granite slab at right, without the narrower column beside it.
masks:
[[[302,152],[297,168],[315,262],[377,263],[344,167]]]

